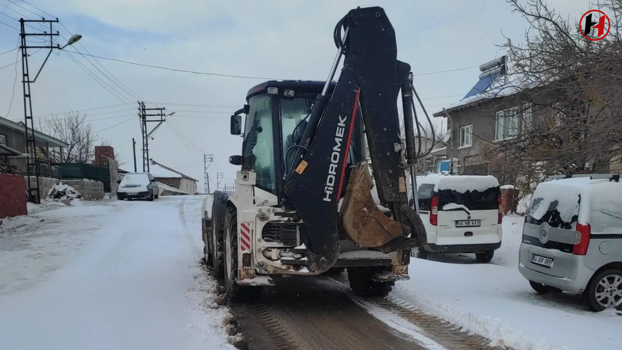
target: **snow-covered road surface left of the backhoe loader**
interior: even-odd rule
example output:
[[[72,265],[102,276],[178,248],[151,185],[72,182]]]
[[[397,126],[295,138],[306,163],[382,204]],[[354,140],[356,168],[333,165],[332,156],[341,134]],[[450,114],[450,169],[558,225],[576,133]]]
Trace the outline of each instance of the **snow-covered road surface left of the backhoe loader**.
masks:
[[[31,208],[0,226],[0,349],[233,349],[198,264],[211,197]]]

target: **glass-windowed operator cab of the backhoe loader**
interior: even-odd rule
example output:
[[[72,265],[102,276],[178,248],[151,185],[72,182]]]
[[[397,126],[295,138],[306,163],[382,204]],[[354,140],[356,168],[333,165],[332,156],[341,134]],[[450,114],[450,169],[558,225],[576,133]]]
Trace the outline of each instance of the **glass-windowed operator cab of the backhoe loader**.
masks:
[[[230,163],[256,173],[255,196],[266,205],[281,206],[282,182],[294,164],[295,148],[302,141],[315,98],[322,92],[322,81],[271,80],[251,88],[246,105],[231,116],[231,134],[243,135],[241,156],[231,156]],[[330,84],[327,97],[335,88]],[[241,114],[246,118],[242,123]],[[355,132],[348,153],[346,179],[350,164],[365,157],[363,121],[357,113]],[[343,189],[345,192],[345,188]]]

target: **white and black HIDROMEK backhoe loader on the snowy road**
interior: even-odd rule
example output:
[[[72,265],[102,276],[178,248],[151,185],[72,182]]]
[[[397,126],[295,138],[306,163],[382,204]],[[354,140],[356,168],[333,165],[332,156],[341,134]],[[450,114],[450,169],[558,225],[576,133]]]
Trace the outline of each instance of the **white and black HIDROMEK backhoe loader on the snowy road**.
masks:
[[[243,136],[229,159],[240,166],[237,186],[214,192],[203,242],[233,300],[258,297],[277,277],[338,268],[355,293],[386,295],[409,278],[411,248],[425,244],[409,205],[409,169],[421,155],[416,92],[391,22],[381,7],[353,9],[334,40],[326,81],[261,83],[231,116],[231,135]]]

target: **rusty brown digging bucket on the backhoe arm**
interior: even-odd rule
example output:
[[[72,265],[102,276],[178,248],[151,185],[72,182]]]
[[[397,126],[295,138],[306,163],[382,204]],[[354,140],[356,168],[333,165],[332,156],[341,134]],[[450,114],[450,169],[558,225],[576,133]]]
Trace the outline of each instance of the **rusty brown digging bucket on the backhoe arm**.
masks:
[[[349,239],[363,247],[380,247],[402,235],[402,225],[378,209],[371,196],[372,180],[366,161],[353,169],[339,217]]]

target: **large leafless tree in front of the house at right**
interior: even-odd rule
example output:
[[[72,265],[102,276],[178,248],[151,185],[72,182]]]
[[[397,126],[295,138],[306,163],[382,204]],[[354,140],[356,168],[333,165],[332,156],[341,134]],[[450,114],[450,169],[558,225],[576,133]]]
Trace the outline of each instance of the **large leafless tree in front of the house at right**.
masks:
[[[598,41],[545,0],[508,3],[528,26],[522,44],[501,45],[510,83],[491,97],[511,95],[520,107],[509,126],[513,137],[490,144],[483,158],[522,177],[608,171],[622,149],[622,1],[600,1],[611,26]]]

